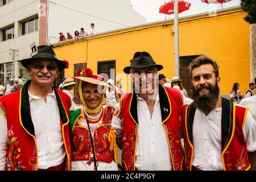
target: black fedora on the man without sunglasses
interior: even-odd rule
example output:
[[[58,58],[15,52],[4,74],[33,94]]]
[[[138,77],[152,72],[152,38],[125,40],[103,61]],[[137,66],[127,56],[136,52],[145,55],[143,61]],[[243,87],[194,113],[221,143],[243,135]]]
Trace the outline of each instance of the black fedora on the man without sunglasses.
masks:
[[[147,67],[156,67],[158,71],[163,69],[162,65],[156,64],[148,52],[135,52],[131,65],[125,67],[123,72],[129,74],[131,68],[147,68]]]

